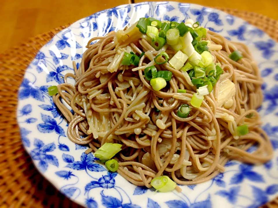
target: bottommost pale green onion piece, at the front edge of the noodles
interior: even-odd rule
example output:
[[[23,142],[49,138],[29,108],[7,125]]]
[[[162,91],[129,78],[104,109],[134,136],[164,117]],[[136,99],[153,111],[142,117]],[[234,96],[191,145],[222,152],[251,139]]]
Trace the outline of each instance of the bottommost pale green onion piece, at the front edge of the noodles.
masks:
[[[168,176],[155,177],[151,180],[151,185],[159,192],[170,192],[177,186]]]

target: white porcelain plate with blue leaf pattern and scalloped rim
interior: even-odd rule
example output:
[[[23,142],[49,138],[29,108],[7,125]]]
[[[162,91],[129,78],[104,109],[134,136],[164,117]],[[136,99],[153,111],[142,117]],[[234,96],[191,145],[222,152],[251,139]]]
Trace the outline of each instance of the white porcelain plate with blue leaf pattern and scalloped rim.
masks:
[[[84,153],[86,146],[67,138],[67,122],[47,88],[63,83],[63,75],[73,72],[72,61],[79,65],[90,38],[123,29],[140,17],[149,16],[178,22],[191,18],[229,40],[248,45],[264,79],[264,102],[258,110],[275,149],[271,161],[260,166],[230,161],[225,166],[226,172],[211,181],[181,186],[182,193],[158,193],[136,187],[117,173],[108,172],[91,153]],[[92,14],[59,32],[42,47],[19,88],[17,120],[23,145],[39,172],[63,194],[85,207],[253,208],[278,195],[277,106],[278,45],[263,31],[240,18],[200,5],[145,2]]]

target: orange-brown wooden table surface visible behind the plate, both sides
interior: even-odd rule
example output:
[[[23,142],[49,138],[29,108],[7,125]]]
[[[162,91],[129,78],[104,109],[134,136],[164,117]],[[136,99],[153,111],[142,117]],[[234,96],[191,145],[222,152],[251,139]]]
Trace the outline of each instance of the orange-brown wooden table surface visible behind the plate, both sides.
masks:
[[[145,0],[134,0],[138,3]],[[210,7],[237,8],[278,20],[277,0],[180,0]],[[54,27],[131,0],[0,0],[0,53]]]

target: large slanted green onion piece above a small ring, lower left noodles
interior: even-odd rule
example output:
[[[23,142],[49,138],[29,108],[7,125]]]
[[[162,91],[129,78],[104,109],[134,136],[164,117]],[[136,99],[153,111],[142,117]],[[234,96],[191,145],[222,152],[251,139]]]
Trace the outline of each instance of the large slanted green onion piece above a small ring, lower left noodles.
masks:
[[[121,147],[121,144],[105,143],[103,146],[98,148],[98,150],[94,153],[94,156],[101,161],[107,161],[120,152],[122,150]]]

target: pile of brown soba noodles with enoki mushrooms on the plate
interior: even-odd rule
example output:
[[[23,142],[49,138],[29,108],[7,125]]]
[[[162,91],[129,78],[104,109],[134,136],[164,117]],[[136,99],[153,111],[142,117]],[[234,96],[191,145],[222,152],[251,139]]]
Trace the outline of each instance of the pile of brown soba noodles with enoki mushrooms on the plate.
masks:
[[[182,185],[203,183],[224,172],[231,159],[252,164],[271,159],[272,146],[255,110],[263,101],[262,79],[245,44],[207,32],[204,40],[210,41],[213,62],[220,63],[224,73],[213,91],[204,96],[201,107],[192,107],[187,118],[180,118],[178,107],[191,106],[196,87],[168,62],[156,65],[158,71],[173,73],[162,90],[153,90],[144,76],[144,69],[155,65],[157,54],[165,51],[171,57],[175,51],[167,44],[154,50],[150,38],[143,34],[117,44],[115,36],[112,31],[92,38],[81,66],[77,69],[74,63],[74,74],[65,75],[65,83],[58,85],[58,94],[53,96],[69,123],[72,142],[89,144],[86,153],[96,152],[105,142],[122,144],[122,151],[114,157],[119,161],[118,173],[146,187],[160,175]],[[98,42],[91,44],[95,40]],[[243,55],[238,62],[228,58],[236,50]],[[121,64],[124,52],[130,51],[145,52],[139,66]],[[75,85],[67,83],[67,77],[74,78]],[[227,81],[235,84],[235,93],[223,101],[221,85]],[[186,93],[178,93],[178,89],[186,89]],[[253,116],[248,118],[250,114]],[[248,125],[249,133],[238,136],[237,126],[243,124]],[[254,145],[256,151],[248,153]]]

